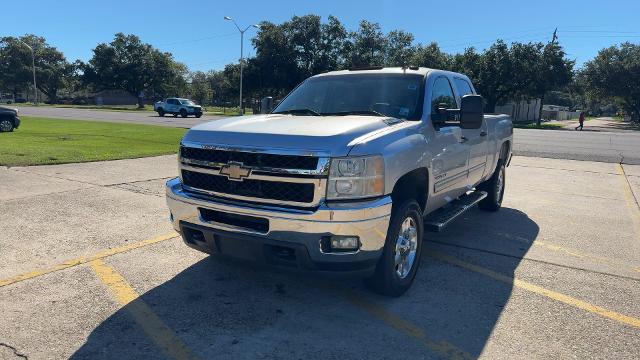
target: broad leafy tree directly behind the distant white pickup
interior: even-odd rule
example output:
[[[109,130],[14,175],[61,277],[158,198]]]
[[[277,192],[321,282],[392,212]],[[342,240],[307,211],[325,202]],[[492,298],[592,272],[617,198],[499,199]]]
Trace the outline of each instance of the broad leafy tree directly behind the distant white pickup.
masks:
[[[185,88],[186,67],[135,35],[117,33],[111,43],[96,46],[83,70],[86,84],[96,90],[122,89],[138,98],[138,107],[144,106],[146,91],[164,97]]]

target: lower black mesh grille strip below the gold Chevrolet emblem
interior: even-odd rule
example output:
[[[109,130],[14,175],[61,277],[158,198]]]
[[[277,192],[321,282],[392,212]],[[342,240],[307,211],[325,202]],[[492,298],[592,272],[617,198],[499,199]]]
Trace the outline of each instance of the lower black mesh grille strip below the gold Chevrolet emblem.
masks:
[[[288,183],[255,179],[233,181],[226,176],[189,170],[182,170],[182,181],[184,185],[194,189],[267,200],[303,203],[313,201],[315,190],[312,183]]]

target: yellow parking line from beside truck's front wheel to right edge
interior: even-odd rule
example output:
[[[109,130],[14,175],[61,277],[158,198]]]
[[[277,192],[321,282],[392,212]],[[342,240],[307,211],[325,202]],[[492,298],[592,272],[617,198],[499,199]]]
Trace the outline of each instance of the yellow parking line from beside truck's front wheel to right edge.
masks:
[[[508,285],[513,285],[515,287],[521,288],[523,290],[527,290],[530,291],[532,293],[538,294],[538,295],[542,295],[545,297],[548,297],[550,299],[559,301],[561,303],[573,306],[575,308],[578,309],[582,309],[585,311],[588,311],[590,313],[596,314],[596,315],[600,315],[602,317],[617,321],[619,323],[625,324],[625,325],[629,325],[629,326],[633,326],[636,328],[640,328],[640,319],[638,318],[634,318],[631,316],[627,316],[624,314],[620,314],[618,312],[615,311],[611,311],[608,309],[605,309],[603,307],[600,306],[596,306],[593,304],[590,304],[586,301],[582,301],[579,299],[576,299],[574,297],[571,297],[569,295],[565,295],[565,294],[561,294],[559,292],[553,291],[553,290],[549,290],[546,289],[542,286],[538,286],[535,284],[532,284],[530,282],[524,281],[524,280],[520,280],[520,279],[516,279],[507,275],[503,275],[500,274],[496,271],[484,268],[482,266],[479,265],[475,265],[475,264],[471,264],[468,263],[466,261],[460,260],[458,258],[449,256],[449,255],[445,255],[442,254],[440,252],[437,251],[428,251],[428,255],[436,258],[440,261],[444,261],[446,263],[449,263],[451,265],[455,265],[458,266],[460,268],[466,269],[466,270],[470,270],[482,275],[486,275],[494,280],[498,280],[500,282],[503,282],[505,284]]]

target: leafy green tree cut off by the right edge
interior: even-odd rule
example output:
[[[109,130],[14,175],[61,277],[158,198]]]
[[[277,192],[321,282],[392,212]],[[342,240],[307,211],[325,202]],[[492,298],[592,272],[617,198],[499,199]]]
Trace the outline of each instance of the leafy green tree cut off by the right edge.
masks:
[[[640,121],[640,45],[626,42],[600,50],[581,76],[592,96],[615,100]]]

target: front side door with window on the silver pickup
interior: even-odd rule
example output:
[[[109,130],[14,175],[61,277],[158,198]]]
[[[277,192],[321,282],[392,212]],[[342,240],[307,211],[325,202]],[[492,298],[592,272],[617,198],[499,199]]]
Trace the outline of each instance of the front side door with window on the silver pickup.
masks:
[[[431,120],[441,116],[438,108],[457,108],[456,98],[449,78],[438,75],[431,84]],[[451,201],[461,195],[466,188],[467,161],[469,144],[463,138],[463,130],[455,118],[447,119],[446,124],[436,125],[433,148],[434,154],[431,168],[434,177],[433,191],[438,198]]]

